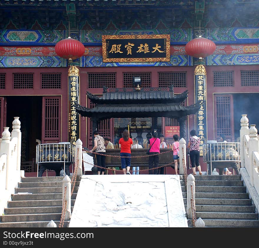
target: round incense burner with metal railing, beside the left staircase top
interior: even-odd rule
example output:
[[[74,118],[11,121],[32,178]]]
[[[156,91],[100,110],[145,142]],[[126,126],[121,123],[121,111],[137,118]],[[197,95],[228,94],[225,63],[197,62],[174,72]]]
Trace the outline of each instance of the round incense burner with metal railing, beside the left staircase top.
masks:
[[[75,145],[69,142],[60,142],[54,144],[36,145],[36,164],[37,176],[39,165],[44,165],[46,169],[57,170],[64,165],[71,165],[75,161]],[[72,169],[73,170],[73,169]],[[69,175],[70,176],[70,175]]]

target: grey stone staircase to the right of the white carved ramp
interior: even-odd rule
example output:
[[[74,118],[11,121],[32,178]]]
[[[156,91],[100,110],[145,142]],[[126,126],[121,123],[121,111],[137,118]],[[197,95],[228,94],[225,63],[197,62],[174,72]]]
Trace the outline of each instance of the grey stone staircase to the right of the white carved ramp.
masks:
[[[186,206],[186,188],[180,176]],[[196,217],[205,227],[259,227],[258,213],[246,193],[241,175],[195,175]],[[188,226],[193,226],[188,220]]]

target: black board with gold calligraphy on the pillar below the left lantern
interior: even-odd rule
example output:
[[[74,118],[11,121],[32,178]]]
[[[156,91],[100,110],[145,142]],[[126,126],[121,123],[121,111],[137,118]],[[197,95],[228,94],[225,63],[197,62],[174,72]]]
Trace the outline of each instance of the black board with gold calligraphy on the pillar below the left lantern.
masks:
[[[68,139],[73,139],[75,144],[80,134],[79,114],[75,109],[75,104],[79,104],[79,69],[76,66],[68,70],[68,99]]]

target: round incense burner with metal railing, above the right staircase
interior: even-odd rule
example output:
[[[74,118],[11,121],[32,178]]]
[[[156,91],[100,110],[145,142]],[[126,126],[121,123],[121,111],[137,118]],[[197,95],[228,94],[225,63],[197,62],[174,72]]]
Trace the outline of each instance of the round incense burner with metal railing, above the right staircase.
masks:
[[[212,169],[232,167],[237,173],[240,160],[240,143],[238,142],[217,142],[205,143],[202,145],[203,162],[207,162],[207,175],[212,174]],[[238,169],[238,170],[237,170]]]

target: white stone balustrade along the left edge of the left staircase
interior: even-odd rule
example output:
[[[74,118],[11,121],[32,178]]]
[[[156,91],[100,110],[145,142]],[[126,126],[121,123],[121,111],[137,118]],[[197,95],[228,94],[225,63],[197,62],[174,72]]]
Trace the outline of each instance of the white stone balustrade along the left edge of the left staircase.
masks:
[[[13,131],[4,127],[0,140],[0,213],[4,212],[11,194],[24,176],[21,167],[21,122],[19,117],[14,117]]]

